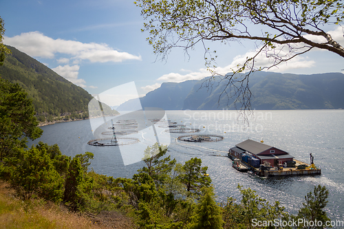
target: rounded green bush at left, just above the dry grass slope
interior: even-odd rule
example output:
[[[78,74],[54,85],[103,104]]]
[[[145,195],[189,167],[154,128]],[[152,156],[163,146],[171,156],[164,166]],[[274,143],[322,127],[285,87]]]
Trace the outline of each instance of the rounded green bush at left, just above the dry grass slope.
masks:
[[[23,199],[36,194],[56,203],[62,200],[64,179],[55,170],[46,149],[18,149],[8,164],[9,182]]]

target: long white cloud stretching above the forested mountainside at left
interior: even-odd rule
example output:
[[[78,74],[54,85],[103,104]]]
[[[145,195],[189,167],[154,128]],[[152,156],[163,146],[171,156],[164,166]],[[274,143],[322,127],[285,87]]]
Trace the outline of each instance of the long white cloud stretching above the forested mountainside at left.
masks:
[[[105,43],[81,43],[52,39],[41,32],[26,32],[13,37],[5,37],[4,43],[17,47],[30,56],[54,58],[56,53],[71,55],[74,59],[95,62],[141,61],[141,56],[118,52]]]

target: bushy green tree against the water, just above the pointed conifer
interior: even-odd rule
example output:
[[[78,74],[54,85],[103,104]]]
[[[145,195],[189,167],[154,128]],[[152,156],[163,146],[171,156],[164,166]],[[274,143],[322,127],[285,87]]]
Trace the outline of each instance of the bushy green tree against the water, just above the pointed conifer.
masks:
[[[200,197],[201,188],[211,184],[211,178],[205,176],[208,167],[202,166],[202,160],[197,157],[185,162],[180,174],[180,182],[184,184],[188,197]]]

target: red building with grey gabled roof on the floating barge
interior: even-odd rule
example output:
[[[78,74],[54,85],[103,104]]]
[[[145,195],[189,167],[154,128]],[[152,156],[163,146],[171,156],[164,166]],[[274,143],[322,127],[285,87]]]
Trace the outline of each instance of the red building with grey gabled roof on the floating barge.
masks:
[[[243,155],[250,155],[250,157],[258,158],[261,164],[270,162],[271,166],[278,166],[284,162],[292,161],[294,158],[286,151],[250,139],[236,144],[229,150],[229,153],[240,159]]]

